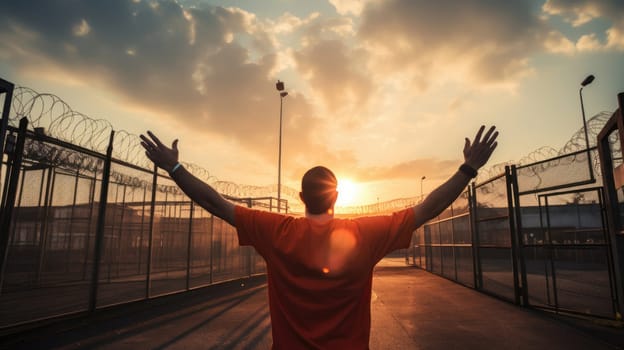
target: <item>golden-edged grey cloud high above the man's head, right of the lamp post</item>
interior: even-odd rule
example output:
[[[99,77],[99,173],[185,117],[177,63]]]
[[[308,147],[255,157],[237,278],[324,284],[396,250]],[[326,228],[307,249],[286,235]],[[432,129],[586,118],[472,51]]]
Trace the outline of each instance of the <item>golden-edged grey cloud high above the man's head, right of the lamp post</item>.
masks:
[[[292,41],[281,64],[291,63],[289,68],[303,78],[300,89],[314,101],[322,119],[334,124],[334,132],[366,119],[375,88],[368,73],[368,53],[354,40],[353,20],[312,13],[306,18],[286,14],[279,21],[277,28],[288,28],[279,31],[290,35],[284,42]]]

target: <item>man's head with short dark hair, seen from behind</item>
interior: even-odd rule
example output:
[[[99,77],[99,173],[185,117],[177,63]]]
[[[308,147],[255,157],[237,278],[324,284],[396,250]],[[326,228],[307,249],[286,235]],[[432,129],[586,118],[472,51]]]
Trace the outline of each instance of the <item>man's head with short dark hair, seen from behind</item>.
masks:
[[[299,196],[310,214],[326,214],[334,207],[338,192],[338,181],[331,170],[316,166],[308,170],[301,179]]]

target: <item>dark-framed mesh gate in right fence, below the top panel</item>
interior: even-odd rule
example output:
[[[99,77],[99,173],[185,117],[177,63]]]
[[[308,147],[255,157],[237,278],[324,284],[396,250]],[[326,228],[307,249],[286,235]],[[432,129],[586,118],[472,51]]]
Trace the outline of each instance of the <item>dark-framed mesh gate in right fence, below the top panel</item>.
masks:
[[[529,304],[612,318],[615,295],[602,188],[538,196],[538,230],[525,231]]]

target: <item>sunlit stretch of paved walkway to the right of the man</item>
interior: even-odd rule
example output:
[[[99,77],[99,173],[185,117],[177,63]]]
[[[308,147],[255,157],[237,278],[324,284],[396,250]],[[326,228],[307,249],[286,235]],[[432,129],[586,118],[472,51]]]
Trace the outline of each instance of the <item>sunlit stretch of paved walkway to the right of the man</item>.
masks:
[[[624,329],[602,327],[607,337],[593,332],[593,325],[575,327],[428,272],[405,269],[378,266],[371,349],[624,349]]]

